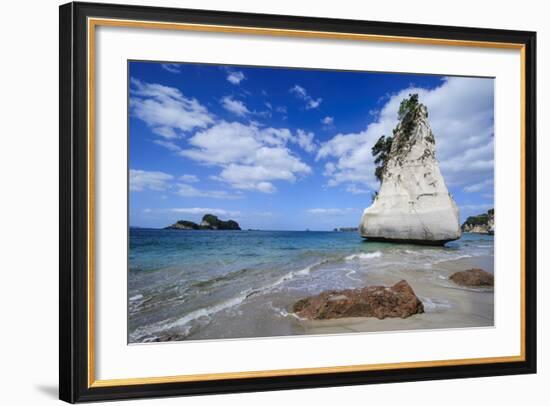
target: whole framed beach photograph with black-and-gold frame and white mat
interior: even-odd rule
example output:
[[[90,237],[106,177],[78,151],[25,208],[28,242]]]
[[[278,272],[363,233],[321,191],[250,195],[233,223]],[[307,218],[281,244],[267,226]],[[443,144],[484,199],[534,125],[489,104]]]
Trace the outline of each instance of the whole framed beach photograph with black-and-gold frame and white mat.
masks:
[[[536,34],[60,7],[60,398],[534,373]]]

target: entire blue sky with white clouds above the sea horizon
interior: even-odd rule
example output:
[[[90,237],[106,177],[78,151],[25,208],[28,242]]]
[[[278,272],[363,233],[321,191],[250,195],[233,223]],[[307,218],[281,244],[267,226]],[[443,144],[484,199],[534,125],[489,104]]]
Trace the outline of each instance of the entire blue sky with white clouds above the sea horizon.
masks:
[[[129,63],[130,225],[357,226],[370,149],[419,93],[461,218],[493,207],[493,79]]]

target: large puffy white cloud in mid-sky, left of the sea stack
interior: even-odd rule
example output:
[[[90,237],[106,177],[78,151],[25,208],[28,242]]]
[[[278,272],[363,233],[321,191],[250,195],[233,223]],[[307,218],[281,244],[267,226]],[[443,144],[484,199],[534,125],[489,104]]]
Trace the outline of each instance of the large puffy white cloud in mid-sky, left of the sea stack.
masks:
[[[294,182],[311,168],[294,155],[286,144],[295,136],[285,128],[260,128],[251,123],[222,121],[200,131],[182,150],[184,157],[221,168],[217,180],[236,189],[274,192],[273,181]]]

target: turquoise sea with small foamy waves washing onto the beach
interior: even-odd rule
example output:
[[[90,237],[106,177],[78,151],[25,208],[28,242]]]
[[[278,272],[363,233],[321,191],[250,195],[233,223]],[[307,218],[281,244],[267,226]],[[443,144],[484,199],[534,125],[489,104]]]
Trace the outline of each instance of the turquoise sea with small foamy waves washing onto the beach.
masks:
[[[286,319],[301,297],[492,255],[493,237],[479,234],[424,247],[354,232],[130,229],[129,342],[291,334]]]

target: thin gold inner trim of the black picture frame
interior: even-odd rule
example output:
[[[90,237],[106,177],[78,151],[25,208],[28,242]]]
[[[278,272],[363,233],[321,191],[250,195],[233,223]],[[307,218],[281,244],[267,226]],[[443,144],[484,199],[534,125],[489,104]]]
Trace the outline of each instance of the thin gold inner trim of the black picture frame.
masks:
[[[439,38],[421,38],[421,37],[399,37],[390,35],[372,35],[372,34],[354,34],[343,32],[326,31],[306,31],[258,27],[240,27],[227,25],[207,25],[207,24],[185,24],[185,23],[163,23],[139,20],[119,20],[107,18],[89,18],[87,27],[88,37],[88,388],[114,387],[126,385],[177,383],[193,381],[212,381],[219,379],[244,379],[244,378],[266,378],[278,376],[296,376],[312,374],[331,374],[341,372],[361,372],[361,371],[380,371],[397,368],[425,368],[440,366],[458,366],[473,364],[489,364],[504,362],[522,362],[525,361],[525,143],[526,143],[526,124],[525,124],[525,45],[504,42],[485,42],[485,41],[463,41]],[[95,379],[95,28],[97,26],[110,27],[131,27],[148,28],[160,30],[182,30],[194,32],[218,32],[244,35],[265,35],[278,37],[298,37],[298,38],[317,38],[317,39],[336,39],[336,40],[355,40],[384,43],[401,43],[432,46],[458,46],[458,47],[477,47],[477,48],[496,48],[512,49],[520,51],[521,65],[521,118],[520,118],[520,163],[521,163],[521,269],[520,269],[520,335],[521,349],[520,354],[515,356],[503,357],[485,357],[485,358],[465,358],[454,360],[435,360],[435,361],[416,361],[416,362],[398,362],[384,364],[366,364],[366,365],[346,365],[317,368],[295,368],[295,369],[277,369],[266,371],[243,371],[243,372],[222,372],[212,374],[191,374],[174,375],[145,378],[123,378],[123,379]]]

